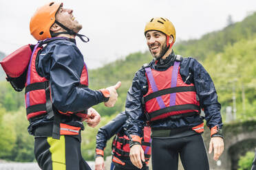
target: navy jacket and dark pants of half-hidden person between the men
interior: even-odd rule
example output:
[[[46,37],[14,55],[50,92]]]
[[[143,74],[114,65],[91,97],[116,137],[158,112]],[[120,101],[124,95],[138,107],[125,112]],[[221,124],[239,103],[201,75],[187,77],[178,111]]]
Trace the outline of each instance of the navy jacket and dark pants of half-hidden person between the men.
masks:
[[[106,147],[107,141],[112,136],[114,136],[114,135],[127,136],[128,135],[125,130],[126,125],[127,125],[125,123],[126,120],[127,120],[127,116],[126,116],[125,112],[120,112],[120,114],[118,114],[115,119],[113,119],[112,121],[107,123],[107,125],[100,127],[100,129],[98,130],[98,134],[96,136],[96,156],[104,156],[103,150]],[[111,170],[119,170],[119,169],[120,170],[121,169],[122,170],[136,170],[136,169],[138,169],[131,163],[131,160],[129,159],[129,155],[118,156],[118,154],[116,153],[114,143],[115,143],[115,139],[118,136],[115,136],[114,142],[112,144],[113,158],[112,158],[110,169]],[[128,145],[128,147],[129,147],[129,145]],[[116,161],[115,159],[120,160],[120,162]],[[123,163],[125,163],[125,165],[122,165]],[[149,167],[147,166],[147,164],[145,164],[145,162],[143,163],[142,169],[144,169],[144,170],[149,169]]]

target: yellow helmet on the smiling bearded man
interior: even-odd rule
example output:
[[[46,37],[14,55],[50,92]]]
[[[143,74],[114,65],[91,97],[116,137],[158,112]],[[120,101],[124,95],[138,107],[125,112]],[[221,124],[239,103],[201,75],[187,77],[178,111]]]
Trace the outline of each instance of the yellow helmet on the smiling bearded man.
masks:
[[[173,23],[171,23],[171,21],[169,21],[168,19],[160,17],[151,19],[149,23],[147,23],[144,33],[146,34],[148,31],[151,30],[162,32],[167,36],[173,36],[173,42],[175,42],[175,27],[173,26]]]

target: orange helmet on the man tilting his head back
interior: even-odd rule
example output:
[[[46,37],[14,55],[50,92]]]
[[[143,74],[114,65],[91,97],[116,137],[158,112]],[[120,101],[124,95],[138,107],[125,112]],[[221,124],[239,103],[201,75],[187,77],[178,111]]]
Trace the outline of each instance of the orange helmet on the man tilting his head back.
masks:
[[[36,40],[52,38],[50,27],[55,22],[55,14],[63,3],[50,2],[36,10],[30,19],[30,34]]]

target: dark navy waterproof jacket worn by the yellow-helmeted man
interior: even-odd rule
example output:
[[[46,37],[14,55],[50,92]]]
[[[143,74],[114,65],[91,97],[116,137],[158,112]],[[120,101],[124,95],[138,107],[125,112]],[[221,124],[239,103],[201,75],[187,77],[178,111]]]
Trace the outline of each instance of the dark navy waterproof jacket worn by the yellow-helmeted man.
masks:
[[[170,66],[173,66],[175,61],[175,53],[172,53],[160,62],[160,60],[152,60],[149,63],[151,69],[157,71],[165,71]],[[182,58],[180,63],[180,75],[186,84],[193,83],[196,93],[200,99],[200,108],[204,109],[205,118],[200,115],[183,117],[176,120],[163,119],[150,123],[151,130],[159,129],[175,129],[179,127],[195,127],[203,123],[206,119],[207,125],[212,128],[217,125],[222,128],[222,117],[220,114],[221,105],[217,101],[217,93],[215,86],[209,73],[204,69],[194,58]],[[142,67],[134,76],[131,87],[127,93],[125,112],[127,117],[127,132],[129,135],[142,136],[142,127],[145,125],[146,117],[142,106],[142,97],[147,93],[148,84],[145,75],[145,69]]]

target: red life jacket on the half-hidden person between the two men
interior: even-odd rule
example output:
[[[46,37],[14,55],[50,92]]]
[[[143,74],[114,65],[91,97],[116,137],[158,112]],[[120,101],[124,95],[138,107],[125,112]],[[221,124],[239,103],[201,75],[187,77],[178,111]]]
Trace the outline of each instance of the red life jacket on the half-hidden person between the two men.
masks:
[[[146,163],[149,161],[151,156],[151,128],[149,126],[145,126],[143,130],[143,138],[142,138],[142,149],[144,150]],[[129,147],[129,137],[123,134],[116,134],[113,143],[112,143],[112,153],[113,153],[113,161],[118,164],[125,165],[125,162],[122,160],[129,158],[130,147]],[[120,160],[116,159],[119,158]]]

